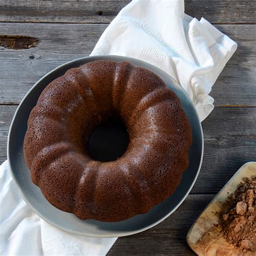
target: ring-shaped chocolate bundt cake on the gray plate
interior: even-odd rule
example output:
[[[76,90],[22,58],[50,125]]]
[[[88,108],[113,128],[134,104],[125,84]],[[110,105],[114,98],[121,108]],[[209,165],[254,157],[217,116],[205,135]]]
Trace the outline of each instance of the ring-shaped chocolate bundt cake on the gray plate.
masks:
[[[117,160],[97,161],[84,142],[112,116],[123,120],[129,145]],[[163,80],[127,62],[97,60],[45,87],[29,116],[24,154],[53,206],[80,219],[121,221],[176,190],[191,143],[190,123]]]

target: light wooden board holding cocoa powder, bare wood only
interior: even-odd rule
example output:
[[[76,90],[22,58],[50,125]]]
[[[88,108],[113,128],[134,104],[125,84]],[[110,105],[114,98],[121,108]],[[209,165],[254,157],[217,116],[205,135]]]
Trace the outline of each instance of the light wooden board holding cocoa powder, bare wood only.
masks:
[[[207,256],[235,256],[241,252],[221,234],[219,213],[228,197],[235,192],[244,178],[251,178],[256,174],[256,162],[249,162],[241,166],[210,204],[200,214],[187,234],[187,243],[198,255]]]

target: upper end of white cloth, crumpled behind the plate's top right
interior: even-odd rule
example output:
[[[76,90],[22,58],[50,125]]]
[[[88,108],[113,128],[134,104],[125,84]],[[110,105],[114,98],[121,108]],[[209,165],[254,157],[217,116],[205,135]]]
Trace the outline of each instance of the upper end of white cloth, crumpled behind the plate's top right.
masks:
[[[203,121],[208,95],[237,44],[204,18],[184,14],[184,1],[132,1],[100,37],[91,55],[138,58],[164,70],[186,90]]]

